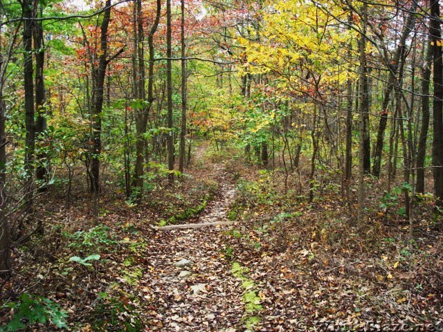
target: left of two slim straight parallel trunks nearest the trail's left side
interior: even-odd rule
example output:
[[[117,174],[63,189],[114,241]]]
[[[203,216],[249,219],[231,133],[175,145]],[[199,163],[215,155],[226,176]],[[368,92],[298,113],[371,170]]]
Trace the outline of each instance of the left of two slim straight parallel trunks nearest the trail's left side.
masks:
[[[172,109],[172,26],[171,26],[171,0],[166,0],[166,94],[168,104],[168,176],[170,184],[174,183],[174,119]]]

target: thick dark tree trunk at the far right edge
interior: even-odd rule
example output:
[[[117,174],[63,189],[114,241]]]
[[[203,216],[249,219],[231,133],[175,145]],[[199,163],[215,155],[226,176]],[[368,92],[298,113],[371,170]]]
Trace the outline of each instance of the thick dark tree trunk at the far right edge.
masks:
[[[431,1],[431,45],[433,48],[433,176],[437,207],[443,206],[443,62],[440,30],[440,1]]]

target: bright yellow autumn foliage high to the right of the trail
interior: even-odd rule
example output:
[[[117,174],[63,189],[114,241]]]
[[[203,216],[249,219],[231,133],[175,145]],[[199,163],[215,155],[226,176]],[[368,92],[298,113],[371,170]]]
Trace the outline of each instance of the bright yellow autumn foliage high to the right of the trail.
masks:
[[[335,19],[346,17],[347,12],[334,1],[322,6],[327,11],[309,1],[266,1],[260,38],[238,39],[246,59],[239,74],[271,73],[279,77],[280,90],[295,89],[302,94],[320,93],[320,89],[355,80],[346,69],[350,66],[348,46],[356,33]]]

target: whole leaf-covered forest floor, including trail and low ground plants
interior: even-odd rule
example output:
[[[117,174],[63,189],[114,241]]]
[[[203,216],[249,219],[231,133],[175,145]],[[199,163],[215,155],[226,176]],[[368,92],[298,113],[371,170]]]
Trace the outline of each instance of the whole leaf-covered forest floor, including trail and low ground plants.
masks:
[[[14,250],[0,331],[17,319],[23,292],[53,323],[24,315],[28,331],[56,330],[57,315],[64,331],[84,332],[443,329],[443,235],[431,202],[417,205],[408,239],[396,203],[373,203],[383,199],[376,181],[358,225],[331,174],[318,176],[309,202],[302,172],[285,187],[282,172],[233,156],[204,145],[188,175],[174,187],[159,180],[148,203],[122,203],[109,188],[95,226],[81,188],[71,204],[60,190],[46,194],[44,237]]]

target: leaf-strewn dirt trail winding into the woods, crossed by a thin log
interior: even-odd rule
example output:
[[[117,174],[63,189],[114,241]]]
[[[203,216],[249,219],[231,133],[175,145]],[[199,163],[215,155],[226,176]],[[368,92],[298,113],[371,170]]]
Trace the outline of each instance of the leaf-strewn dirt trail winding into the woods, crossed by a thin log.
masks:
[[[196,158],[203,153],[204,147],[199,148]],[[165,226],[168,232],[156,232],[148,241],[149,266],[139,284],[143,299],[150,304],[145,313],[150,322],[147,331],[231,332],[242,325],[242,281],[233,275],[224,255],[224,237],[232,223],[226,212],[235,185],[224,163],[208,167],[219,181],[219,193],[197,223],[184,225],[194,229]]]

